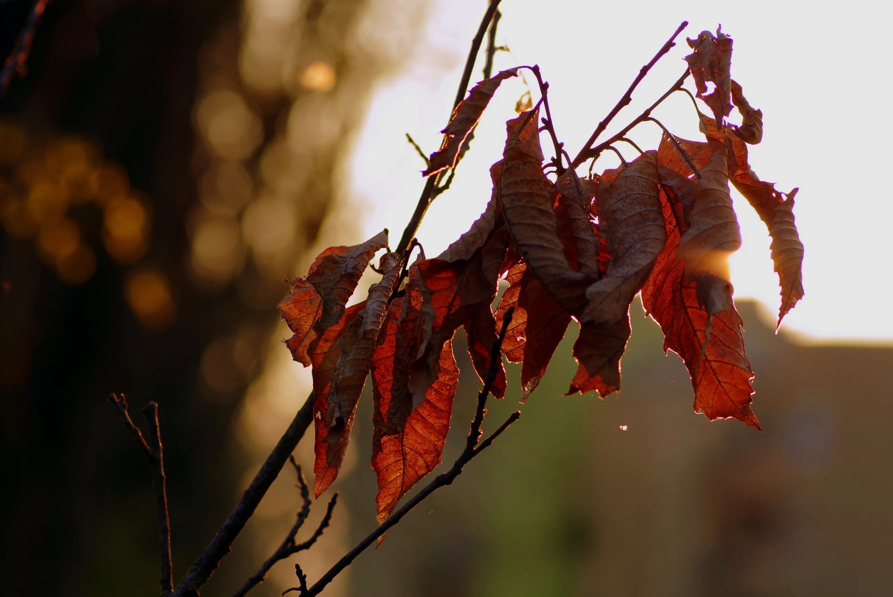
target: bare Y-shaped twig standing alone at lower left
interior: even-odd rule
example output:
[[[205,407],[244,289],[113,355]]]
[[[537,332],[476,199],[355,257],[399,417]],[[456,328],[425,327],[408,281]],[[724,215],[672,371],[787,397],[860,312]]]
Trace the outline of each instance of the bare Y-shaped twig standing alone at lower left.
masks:
[[[149,468],[152,470],[152,486],[155,490],[155,510],[158,514],[158,543],[159,551],[161,551],[161,567],[162,567],[162,595],[170,595],[173,591],[173,565],[171,563],[171,518],[168,515],[167,505],[167,480],[164,477],[164,450],[162,446],[161,432],[158,428],[158,405],[155,402],[149,402],[143,407],[143,416],[146,417],[146,423],[149,427],[149,441],[143,436],[139,427],[134,425],[133,419],[130,419],[130,413],[127,408],[127,399],[124,394],[112,394],[108,398],[121,414],[124,420],[124,427],[133,435],[139,449],[146,456]]]

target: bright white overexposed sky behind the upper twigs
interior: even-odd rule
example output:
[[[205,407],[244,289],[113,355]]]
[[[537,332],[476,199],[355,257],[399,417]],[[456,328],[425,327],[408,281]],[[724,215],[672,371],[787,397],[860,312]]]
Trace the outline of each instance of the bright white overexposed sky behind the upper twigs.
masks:
[[[437,149],[438,130],[447,123],[486,4],[430,2],[417,51],[405,70],[383,81],[374,95],[350,171],[357,216],[370,236],[387,227],[396,241],[409,220],[423,186],[423,164],[404,135],[413,135],[426,153]],[[496,67],[540,65],[551,84],[558,137],[574,155],[681,21],[690,24],[677,46],[651,70],[603,138],[680,76],[683,56],[690,52],[685,37],[715,31],[722,23],[723,32],[734,39],[732,78],[764,113],[763,143],[749,147],[751,167],[782,191],[800,187],[795,215],[805,245],[805,298],[782,327],[810,336],[890,340],[893,313],[886,303],[893,294],[888,257],[893,197],[879,175],[889,170],[891,158],[886,143],[891,125],[883,115],[893,69],[882,28],[893,9],[862,0],[835,6],[782,0],[504,0],[497,43],[511,53],[498,54]],[[481,79],[482,66],[481,61],[475,67],[472,82]],[[520,79],[510,79],[490,103],[453,187],[438,197],[422,223],[418,236],[429,256],[483,211],[490,195],[488,167],[502,156],[505,120],[514,116],[514,103],[525,89]],[[707,112],[705,106],[702,111]],[[686,95],[673,95],[654,116],[680,137],[702,139]],[[644,124],[630,137],[643,149],[656,148],[660,130]],[[629,158],[636,154],[621,149]],[[615,156],[605,155],[596,169],[617,163]],[[777,312],[778,278],[766,228],[734,189],[732,198],[743,236],[732,258],[736,296],[756,297]]]

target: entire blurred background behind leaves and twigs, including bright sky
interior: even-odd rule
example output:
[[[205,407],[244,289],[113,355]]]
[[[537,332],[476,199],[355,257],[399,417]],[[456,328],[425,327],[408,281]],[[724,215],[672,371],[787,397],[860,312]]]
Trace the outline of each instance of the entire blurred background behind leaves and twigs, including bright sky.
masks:
[[[113,391],[134,411],[160,403],[176,577],[210,541],[310,389],[281,345],[283,278],[326,246],[405,226],[423,167],[405,133],[426,153],[439,144],[486,4],[47,4],[27,76],[0,98],[0,593],[157,594],[149,475],[105,402]],[[893,157],[889,121],[874,116],[889,52],[865,33],[890,9],[850,6],[504,1],[497,68],[540,64],[573,150],[680,21],[691,21],[682,43],[616,128],[680,75],[686,35],[722,23],[733,77],[765,114],[751,165],[801,188],[806,297],[774,335],[769,239],[733,196],[744,236],[733,281],[763,433],[692,413],[686,370],[637,300],[619,398],[562,395],[572,324],[522,420],[326,594],[893,592],[893,316],[875,299],[893,291],[893,197],[873,174]],[[3,56],[31,7],[0,1]],[[512,79],[497,93],[422,224],[429,255],[483,210],[488,166],[528,88]],[[655,115],[697,138],[677,95]],[[660,130],[642,129],[633,139],[655,146]],[[479,387],[463,343],[446,461]],[[508,395],[520,395],[509,369]],[[368,398],[358,421],[371,419]],[[486,427],[515,408],[492,404]],[[296,451],[308,466],[310,440]],[[358,422],[332,527],[252,594],[295,585],[295,560],[321,576],[371,531],[370,444]],[[233,593],[280,543],[293,485],[287,469],[203,594]]]

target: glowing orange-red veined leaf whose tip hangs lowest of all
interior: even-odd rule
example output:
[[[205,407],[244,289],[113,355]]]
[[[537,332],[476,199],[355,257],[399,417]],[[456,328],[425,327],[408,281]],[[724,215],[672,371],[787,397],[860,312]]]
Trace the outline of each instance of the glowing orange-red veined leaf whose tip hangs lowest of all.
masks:
[[[391,311],[392,317],[394,312]],[[388,327],[382,331],[385,332],[382,346],[395,345],[391,338],[400,332],[393,319],[388,321]],[[387,360],[390,350],[393,349],[381,350],[376,363]],[[381,381],[377,385],[373,412],[372,469],[379,482],[379,493],[375,498],[378,507],[376,519],[379,523],[390,516],[413,485],[440,463],[449,431],[453,398],[459,384],[459,369],[455,365],[451,342],[447,341],[443,345],[438,362],[437,379],[425,393],[424,401],[413,410],[396,435],[390,434],[392,427],[386,424],[390,408],[390,393],[386,385],[388,382]],[[388,367],[376,367],[375,370],[385,372]]]

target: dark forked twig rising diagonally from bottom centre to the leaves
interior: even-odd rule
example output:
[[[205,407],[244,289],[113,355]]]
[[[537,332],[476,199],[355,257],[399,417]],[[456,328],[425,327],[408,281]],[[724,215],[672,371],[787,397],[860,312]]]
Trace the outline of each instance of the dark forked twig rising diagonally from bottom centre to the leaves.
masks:
[[[468,432],[468,439],[465,443],[465,449],[459,455],[459,458],[455,460],[453,463],[453,467],[450,468],[446,473],[442,473],[435,477],[433,481],[431,481],[428,485],[419,492],[416,493],[411,500],[406,502],[399,510],[396,510],[393,514],[391,514],[387,520],[385,520],[381,525],[376,528],[370,535],[367,535],[363,541],[357,543],[354,549],[348,551],[341,560],[330,568],[328,572],[326,572],[320,580],[318,580],[313,586],[309,589],[305,589],[302,587],[295,587],[289,589],[289,591],[300,591],[302,595],[306,595],[307,597],[313,597],[313,595],[318,595],[322,592],[322,590],[329,585],[335,576],[350,566],[351,562],[355,560],[355,558],[363,553],[367,548],[369,548],[372,543],[378,541],[381,535],[384,535],[388,532],[390,527],[396,525],[400,520],[409,513],[410,510],[413,510],[419,503],[421,503],[425,498],[427,498],[431,493],[437,491],[440,487],[445,485],[450,485],[455,481],[456,477],[462,474],[463,467],[468,464],[470,460],[472,460],[475,456],[480,454],[485,448],[487,448],[490,444],[493,444],[493,440],[495,440],[505,429],[508,428],[513,422],[518,420],[521,417],[521,411],[515,410],[512,415],[505,420],[496,431],[494,431],[491,435],[487,437],[483,442],[478,443],[480,440],[480,426],[483,424],[484,415],[487,412],[485,408],[487,405],[487,396],[490,392],[490,388],[493,386],[493,383],[496,381],[497,373],[499,370],[498,363],[502,362],[502,356],[500,355],[499,348],[502,346],[502,342],[505,339],[505,331],[508,329],[508,324],[512,320],[513,309],[509,309],[505,313],[505,318],[503,319],[502,329],[499,332],[499,337],[497,342],[493,345],[493,350],[490,355],[490,369],[487,373],[487,378],[484,380],[484,386],[480,390],[480,394],[478,394],[478,408],[474,412],[474,419],[472,419],[472,426]],[[283,593],[285,594],[285,593]]]

